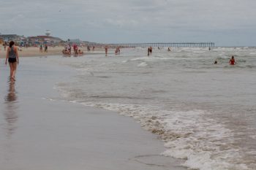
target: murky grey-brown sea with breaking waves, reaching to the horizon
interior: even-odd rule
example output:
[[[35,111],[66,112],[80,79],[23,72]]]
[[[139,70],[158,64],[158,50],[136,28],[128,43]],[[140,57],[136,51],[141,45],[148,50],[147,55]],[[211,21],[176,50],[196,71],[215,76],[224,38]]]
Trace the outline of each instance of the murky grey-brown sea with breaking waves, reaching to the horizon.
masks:
[[[184,159],[183,166],[256,169],[256,48],[111,52],[52,58],[76,72],[56,85],[63,98],[133,117],[165,141],[162,155]]]

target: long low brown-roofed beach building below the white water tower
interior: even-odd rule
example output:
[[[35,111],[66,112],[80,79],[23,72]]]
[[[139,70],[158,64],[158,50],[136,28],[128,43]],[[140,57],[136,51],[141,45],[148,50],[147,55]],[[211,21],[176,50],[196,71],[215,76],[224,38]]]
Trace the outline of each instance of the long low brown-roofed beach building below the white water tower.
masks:
[[[53,36],[29,36],[28,42],[33,46],[41,44],[59,45],[61,42],[63,42],[63,40]]]

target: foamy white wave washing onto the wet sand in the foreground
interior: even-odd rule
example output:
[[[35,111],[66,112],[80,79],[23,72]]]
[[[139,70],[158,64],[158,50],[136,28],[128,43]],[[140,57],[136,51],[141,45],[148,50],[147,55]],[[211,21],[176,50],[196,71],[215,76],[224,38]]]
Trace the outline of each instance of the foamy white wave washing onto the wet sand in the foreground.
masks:
[[[200,170],[248,169],[244,163],[239,163],[242,154],[241,149],[233,145],[233,132],[207,118],[209,113],[203,110],[182,112],[132,104],[71,102],[133,117],[165,142],[167,150],[162,155],[184,159],[183,166]]]

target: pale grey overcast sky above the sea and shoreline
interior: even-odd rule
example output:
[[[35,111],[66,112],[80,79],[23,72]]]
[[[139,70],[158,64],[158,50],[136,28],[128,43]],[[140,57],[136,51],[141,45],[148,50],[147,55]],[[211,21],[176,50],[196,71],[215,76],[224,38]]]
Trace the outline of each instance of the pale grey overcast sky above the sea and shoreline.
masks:
[[[7,0],[0,2],[0,33],[256,46],[255,9],[255,0]]]

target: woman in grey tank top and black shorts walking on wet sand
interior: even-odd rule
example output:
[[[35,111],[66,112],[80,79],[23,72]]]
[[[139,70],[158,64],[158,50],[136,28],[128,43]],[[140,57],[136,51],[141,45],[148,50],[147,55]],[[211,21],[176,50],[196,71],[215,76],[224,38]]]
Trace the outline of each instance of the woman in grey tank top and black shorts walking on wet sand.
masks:
[[[10,42],[7,48],[7,55],[5,58],[5,64],[7,65],[7,60],[10,66],[10,79],[15,81],[15,73],[17,69],[17,64],[19,63],[18,47],[14,45],[13,41]]]

